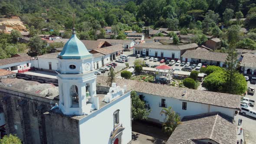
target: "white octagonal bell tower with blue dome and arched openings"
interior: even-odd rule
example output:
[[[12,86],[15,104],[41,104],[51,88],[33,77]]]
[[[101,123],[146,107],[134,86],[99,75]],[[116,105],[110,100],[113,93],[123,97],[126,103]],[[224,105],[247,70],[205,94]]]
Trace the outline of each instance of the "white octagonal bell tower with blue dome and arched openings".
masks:
[[[58,54],[59,108],[64,115],[88,115],[98,109],[93,56],[72,36]]]

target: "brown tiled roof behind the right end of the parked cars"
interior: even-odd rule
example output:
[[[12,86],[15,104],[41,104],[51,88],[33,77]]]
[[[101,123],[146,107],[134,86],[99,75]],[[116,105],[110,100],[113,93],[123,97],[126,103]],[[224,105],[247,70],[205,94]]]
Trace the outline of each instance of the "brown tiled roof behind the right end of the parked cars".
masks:
[[[225,62],[227,54],[221,52],[210,52],[207,49],[195,49],[187,50],[181,57]]]

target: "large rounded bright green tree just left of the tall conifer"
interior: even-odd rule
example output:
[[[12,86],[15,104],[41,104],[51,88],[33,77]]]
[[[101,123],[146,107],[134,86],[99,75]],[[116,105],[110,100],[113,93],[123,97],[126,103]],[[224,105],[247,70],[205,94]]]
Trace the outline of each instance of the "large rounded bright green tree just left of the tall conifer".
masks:
[[[226,72],[217,70],[203,80],[203,87],[212,92],[224,92],[223,88],[226,83]]]

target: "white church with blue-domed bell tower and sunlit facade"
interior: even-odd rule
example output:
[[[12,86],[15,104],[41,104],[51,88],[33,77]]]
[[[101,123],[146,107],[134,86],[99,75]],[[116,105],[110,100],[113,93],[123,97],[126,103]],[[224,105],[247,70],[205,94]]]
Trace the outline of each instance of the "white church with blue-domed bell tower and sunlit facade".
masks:
[[[96,93],[97,76],[94,75],[93,55],[76,37],[74,30],[57,60],[59,105],[56,104],[52,110],[53,113],[60,110],[70,121],[79,121],[79,143],[131,142],[130,92],[126,91],[126,86],[121,88],[112,83],[106,95]],[[59,115],[58,112],[55,114]]]

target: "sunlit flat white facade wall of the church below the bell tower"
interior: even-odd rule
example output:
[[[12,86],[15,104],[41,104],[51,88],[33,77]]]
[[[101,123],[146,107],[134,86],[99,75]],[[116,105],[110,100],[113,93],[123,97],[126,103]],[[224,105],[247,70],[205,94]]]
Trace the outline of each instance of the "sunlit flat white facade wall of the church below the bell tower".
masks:
[[[131,98],[130,93],[126,93],[79,121],[80,143],[112,144],[110,136],[116,110],[120,110],[119,123],[125,128],[121,135],[121,144],[131,141]]]

